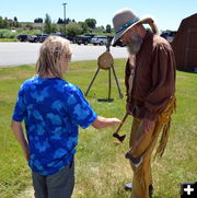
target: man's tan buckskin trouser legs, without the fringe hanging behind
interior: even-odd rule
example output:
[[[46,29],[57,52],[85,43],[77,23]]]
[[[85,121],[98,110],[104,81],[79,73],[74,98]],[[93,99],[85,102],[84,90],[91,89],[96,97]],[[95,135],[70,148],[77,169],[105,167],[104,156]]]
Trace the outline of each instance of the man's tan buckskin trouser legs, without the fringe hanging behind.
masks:
[[[134,171],[130,198],[149,198],[149,186],[152,185],[151,154],[161,128],[162,125],[155,125],[153,131],[144,133],[142,121],[134,118],[129,141],[129,145],[131,148],[130,151],[134,158],[143,156],[143,161],[138,167],[136,167],[130,161],[130,165]],[[140,136],[142,138],[139,139],[136,145],[136,139],[138,139]],[[132,150],[134,145],[136,145],[135,150]]]

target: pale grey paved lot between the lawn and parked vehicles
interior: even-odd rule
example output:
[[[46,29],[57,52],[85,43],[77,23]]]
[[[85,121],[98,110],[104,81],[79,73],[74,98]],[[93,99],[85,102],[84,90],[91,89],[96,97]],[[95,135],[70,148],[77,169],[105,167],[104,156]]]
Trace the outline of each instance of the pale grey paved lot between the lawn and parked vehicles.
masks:
[[[34,43],[0,43],[0,67],[35,63],[42,44]],[[71,44],[72,61],[95,60],[106,50],[105,46]],[[111,47],[114,58],[128,56],[125,47]]]

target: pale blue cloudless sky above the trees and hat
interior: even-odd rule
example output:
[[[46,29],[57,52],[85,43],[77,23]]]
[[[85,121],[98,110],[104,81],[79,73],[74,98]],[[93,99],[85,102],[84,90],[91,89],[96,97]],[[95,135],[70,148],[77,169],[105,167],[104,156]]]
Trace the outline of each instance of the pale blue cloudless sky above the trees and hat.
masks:
[[[123,8],[130,8],[138,16],[152,15],[163,31],[176,31],[184,18],[197,13],[197,0],[1,0],[0,16],[33,22],[48,13],[57,22],[63,19],[63,2],[68,3],[66,18],[77,22],[95,19],[96,26],[112,25],[114,13]]]

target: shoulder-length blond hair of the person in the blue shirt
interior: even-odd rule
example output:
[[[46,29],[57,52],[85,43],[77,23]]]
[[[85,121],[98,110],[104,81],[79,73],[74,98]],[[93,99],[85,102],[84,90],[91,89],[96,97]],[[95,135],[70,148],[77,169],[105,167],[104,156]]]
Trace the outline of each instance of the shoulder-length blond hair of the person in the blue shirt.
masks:
[[[70,42],[60,36],[49,36],[46,38],[39,49],[39,57],[36,62],[38,77],[45,77],[47,73],[51,73],[57,78],[62,78],[60,67],[60,57],[62,55],[71,58]]]

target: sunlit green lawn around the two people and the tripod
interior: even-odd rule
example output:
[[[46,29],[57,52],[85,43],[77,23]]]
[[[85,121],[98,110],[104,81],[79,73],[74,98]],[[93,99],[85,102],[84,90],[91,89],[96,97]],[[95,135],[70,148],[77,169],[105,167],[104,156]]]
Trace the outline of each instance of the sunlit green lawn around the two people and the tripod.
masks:
[[[115,60],[115,70],[125,95],[125,59]],[[65,79],[86,91],[95,71],[96,61],[71,62]],[[34,74],[33,66],[0,68],[0,197],[14,198],[32,185],[31,171],[21,148],[10,129],[10,120],[21,83]],[[113,78],[113,75],[112,75]],[[125,97],[118,96],[113,79],[113,103],[97,102],[107,97],[108,72],[101,70],[89,92],[88,101],[101,116],[123,118]],[[197,75],[177,72],[177,112],[164,156],[153,162],[154,198],[178,198],[179,183],[194,182],[197,176]],[[80,129],[76,154],[76,188],[73,198],[127,198],[123,186],[131,180],[132,173],[124,158],[128,150],[130,121],[127,119],[120,133],[127,139],[115,145],[115,129]]]

